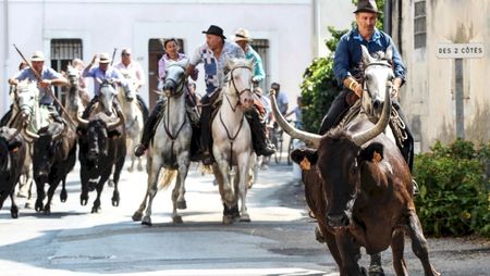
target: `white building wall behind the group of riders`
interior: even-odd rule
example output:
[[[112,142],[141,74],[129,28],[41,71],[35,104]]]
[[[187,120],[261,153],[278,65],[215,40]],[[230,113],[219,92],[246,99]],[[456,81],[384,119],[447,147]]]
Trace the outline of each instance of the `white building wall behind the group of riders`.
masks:
[[[149,38],[184,38],[185,51],[192,53],[205,42],[201,30],[210,24],[221,26],[229,38],[246,27],[254,37],[269,39],[271,81],[281,83],[290,99],[299,92],[304,70],[314,58],[308,47],[314,34],[310,0],[11,0],[9,5],[9,43],[16,43],[26,57],[42,50],[49,59],[52,38],[82,38],[85,62],[94,53],[132,47],[147,71]],[[0,60],[8,71],[1,91],[8,90],[3,75],[12,76],[20,62],[13,47],[9,54],[9,63]],[[146,87],[143,91],[147,98]],[[2,100],[1,111],[7,108]]]

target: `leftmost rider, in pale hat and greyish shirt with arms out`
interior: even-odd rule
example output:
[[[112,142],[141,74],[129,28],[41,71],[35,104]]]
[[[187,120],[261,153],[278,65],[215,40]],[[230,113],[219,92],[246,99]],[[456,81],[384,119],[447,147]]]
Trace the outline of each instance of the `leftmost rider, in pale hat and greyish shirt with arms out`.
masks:
[[[37,87],[39,88],[39,104],[45,105],[51,117],[56,122],[62,122],[61,116],[58,113],[56,106],[53,105],[53,98],[49,93],[49,86],[65,86],[68,85],[68,79],[60,73],[54,70],[45,66],[45,54],[41,51],[35,51],[30,57],[30,64],[33,67],[25,67],[20,71],[15,76],[9,79],[9,84],[15,86],[19,81],[24,79],[28,79],[32,81],[38,81]],[[41,80],[39,81],[34,74],[34,71],[40,76]]]

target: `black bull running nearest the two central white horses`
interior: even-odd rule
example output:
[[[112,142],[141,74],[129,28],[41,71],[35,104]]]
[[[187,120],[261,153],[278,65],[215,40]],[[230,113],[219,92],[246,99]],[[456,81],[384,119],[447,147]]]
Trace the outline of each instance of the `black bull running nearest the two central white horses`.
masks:
[[[86,205],[88,191],[97,190],[97,199],[94,201],[91,209],[93,213],[100,209],[100,195],[113,166],[112,205],[119,205],[118,184],[126,158],[126,136],[123,115],[120,112],[118,115],[117,122],[112,122],[112,118],[103,113],[96,114],[90,121],[77,116],[79,176],[82,180],[79,199],[81,204]]]

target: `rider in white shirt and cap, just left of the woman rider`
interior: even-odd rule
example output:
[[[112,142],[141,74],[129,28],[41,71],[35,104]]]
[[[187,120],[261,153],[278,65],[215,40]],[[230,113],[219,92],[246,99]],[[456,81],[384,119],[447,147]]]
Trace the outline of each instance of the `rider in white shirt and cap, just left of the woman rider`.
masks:
[[[142,65],[134,61],[132,58],[132,51],[130,48],[124,48],[121,51],[121,62],[115,65],[115,68],[119,70],[119,72],[126,73],[126,78],[130,78],[133,81],[136,81],[136,90],[139,91],[139,88],[145,85],[146,78],[145,78],[145,72],[143,72]],[[143,101],[143,98],[139,96],[139,93],[136,93],[136,99],[138,100],[139,106],[142,108],[142,112],[144,114],[144,117],[148,117],[148,108],[146,106],[146,103]]]

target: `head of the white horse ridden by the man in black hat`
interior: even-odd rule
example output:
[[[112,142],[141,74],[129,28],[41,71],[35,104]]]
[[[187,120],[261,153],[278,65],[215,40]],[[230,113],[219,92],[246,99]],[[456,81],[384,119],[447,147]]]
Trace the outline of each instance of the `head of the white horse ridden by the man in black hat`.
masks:
[[[254,61],[245,59],[231,59],[225,65],[230,70],[229,91],[236,95],[240,104],[247,110],[254,104],[252,77],[254,76]]]

